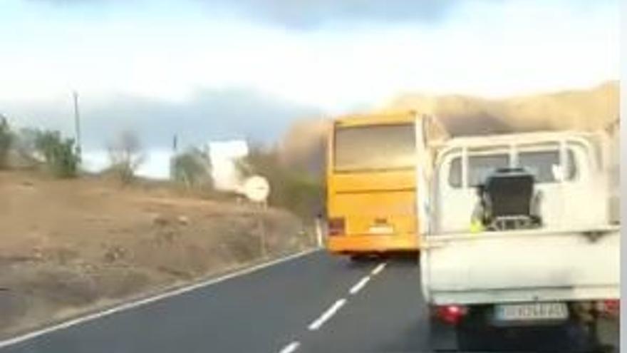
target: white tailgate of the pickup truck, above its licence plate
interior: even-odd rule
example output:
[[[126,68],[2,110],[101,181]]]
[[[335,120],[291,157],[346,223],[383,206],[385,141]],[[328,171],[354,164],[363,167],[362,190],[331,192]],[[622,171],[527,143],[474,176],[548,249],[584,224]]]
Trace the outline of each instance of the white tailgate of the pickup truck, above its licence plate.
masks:
[[[620,230],[432,235],[423,291],[436,304],[618,298]]]

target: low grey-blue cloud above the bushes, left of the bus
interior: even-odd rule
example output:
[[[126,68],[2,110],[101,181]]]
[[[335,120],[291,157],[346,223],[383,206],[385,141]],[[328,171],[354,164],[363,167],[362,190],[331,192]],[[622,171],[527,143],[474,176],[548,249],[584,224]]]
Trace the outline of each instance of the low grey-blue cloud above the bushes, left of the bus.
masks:
[[[2,102],[0,111],[19,126],[53,128],[70,135],[73,111],[66,102]],[[184,102],[137,96],[81,97],[83,148],[105,148],[120,131],[135,131],[146,148],[167,148],[172,136],[180,145],[213,139],[249,138],[274,143],[291,121],[318,116],[316,108],[299,106],[249,90],[199,90]]]

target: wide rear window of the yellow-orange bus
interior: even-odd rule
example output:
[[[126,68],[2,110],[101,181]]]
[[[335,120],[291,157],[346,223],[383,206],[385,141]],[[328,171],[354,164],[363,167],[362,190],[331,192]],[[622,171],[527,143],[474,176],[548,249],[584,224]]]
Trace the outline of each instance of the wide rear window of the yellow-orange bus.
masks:
[[[336,128],[336,172],[414,168],[413,124]]]

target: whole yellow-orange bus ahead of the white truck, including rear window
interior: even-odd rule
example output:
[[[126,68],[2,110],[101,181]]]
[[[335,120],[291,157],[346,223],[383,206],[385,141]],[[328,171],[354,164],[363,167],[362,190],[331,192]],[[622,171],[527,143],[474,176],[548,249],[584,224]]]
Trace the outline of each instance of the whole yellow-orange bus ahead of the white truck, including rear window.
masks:
[[[326,163],[329,252],[357,259],[419,249],[416,123],[420,121],[414,111],[334,121]]]

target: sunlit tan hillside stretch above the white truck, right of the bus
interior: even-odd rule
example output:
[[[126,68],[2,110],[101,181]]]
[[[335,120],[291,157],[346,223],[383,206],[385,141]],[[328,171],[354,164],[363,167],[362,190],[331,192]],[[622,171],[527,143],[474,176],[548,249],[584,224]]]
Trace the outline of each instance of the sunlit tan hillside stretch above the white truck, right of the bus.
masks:
[[[587,90],[494,100],[405,94],[380,110],[410,108],[437,115],[454,135],[562,129],[594,131],[618,118],[619,86],[611,81]]]

